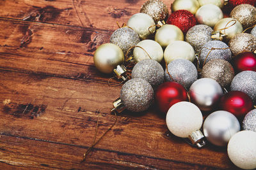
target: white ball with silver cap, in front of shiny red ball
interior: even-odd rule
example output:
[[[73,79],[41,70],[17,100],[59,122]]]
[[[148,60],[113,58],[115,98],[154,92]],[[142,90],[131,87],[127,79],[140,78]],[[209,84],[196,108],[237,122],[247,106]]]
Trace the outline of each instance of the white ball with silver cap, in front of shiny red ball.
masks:
[[[169,131],[180,138],[188,138],[192,132],[201,128],[202,123],[202,112],[195,104],[187,101],[173,104],[166,115]]]

